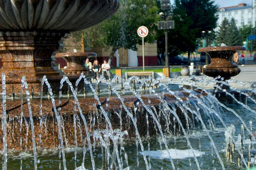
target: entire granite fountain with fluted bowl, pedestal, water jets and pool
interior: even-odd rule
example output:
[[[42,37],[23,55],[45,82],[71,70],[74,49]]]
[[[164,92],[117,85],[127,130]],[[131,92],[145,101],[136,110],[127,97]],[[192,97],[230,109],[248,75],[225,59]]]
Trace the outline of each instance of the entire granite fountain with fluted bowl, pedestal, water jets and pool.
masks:
[[[119,7],[117,0],[1,4],[3,170],[231,170],[248,168],[255,160],[255,88],[233,96],[218,84],[207,91],[193,78],[177,83],[135,76],[126,81],[115,76],[110,82],[100,77],[92,84],[76,65],[79,57],[63,54],[58,55],[81,74],[63,76],[55,68],[63,37],[109,17]],[[228,79],[226,72],[219,75]],[[85,89],[87,94],[82,94]],[[217,99],[217,89],[227,97]]]

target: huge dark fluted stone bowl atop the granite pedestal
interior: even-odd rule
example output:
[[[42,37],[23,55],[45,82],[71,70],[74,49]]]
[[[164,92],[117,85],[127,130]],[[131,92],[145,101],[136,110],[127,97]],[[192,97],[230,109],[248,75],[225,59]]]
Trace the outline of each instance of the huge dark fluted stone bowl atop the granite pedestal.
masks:
[[[78,31],[119,8],[119,0],[0,0],[0,30]]]

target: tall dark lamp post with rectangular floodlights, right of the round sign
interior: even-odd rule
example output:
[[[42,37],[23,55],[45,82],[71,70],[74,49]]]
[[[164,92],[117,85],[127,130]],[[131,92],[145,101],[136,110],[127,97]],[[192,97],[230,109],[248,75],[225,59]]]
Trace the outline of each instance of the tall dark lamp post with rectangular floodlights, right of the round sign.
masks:
[[[169,16],[167,15],[168,9],[171,9],[170,0],[161,0],[161,9],[165,11],[165,14],[163,12],[160,12],[160,17],[163,18],[164,21],[158,22],[158,29],[164,29],[165,30],[165,68],[169,68],[169,55],[168,55],[168,30],[167,29],[174,29],[174,21],[168,21]]]

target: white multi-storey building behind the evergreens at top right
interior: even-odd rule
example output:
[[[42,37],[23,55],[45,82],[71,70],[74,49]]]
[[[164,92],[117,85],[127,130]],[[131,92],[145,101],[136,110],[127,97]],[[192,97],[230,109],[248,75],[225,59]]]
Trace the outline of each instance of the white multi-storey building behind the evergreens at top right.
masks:
[[[246,3],[240,3],[238,6],[228,6],[218,8],[217,26],[221,25],[222,20],[226,17],[229,21],[233,17],[238,27],[242,25],[256,25],[256,0],[253,0],[253,8]],[[218,28],[217,28],[218,29]]]

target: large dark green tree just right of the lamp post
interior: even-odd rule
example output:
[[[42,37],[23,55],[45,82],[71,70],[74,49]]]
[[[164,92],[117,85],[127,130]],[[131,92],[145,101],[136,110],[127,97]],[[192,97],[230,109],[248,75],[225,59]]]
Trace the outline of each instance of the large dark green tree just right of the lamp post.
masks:
[[[170,31],[171,48],[190,53],[198,47],[197,39],[202,31],[212,31],[217,26],[218,6],[212,0],[175,0],[173,10],[175,29]],[[170,50],[171,51],[171,50]]]

